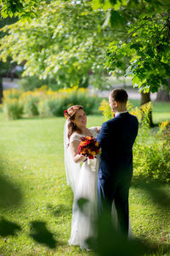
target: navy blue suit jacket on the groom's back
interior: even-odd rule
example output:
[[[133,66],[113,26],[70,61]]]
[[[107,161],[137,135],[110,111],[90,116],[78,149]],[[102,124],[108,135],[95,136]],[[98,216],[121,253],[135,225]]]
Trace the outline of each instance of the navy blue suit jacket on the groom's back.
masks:
[[[138,119],[128,112],[118,113],[102,125],[97,137],[102,152],[99,178],[112,180],[133,172],[133,143],[138,129]]]

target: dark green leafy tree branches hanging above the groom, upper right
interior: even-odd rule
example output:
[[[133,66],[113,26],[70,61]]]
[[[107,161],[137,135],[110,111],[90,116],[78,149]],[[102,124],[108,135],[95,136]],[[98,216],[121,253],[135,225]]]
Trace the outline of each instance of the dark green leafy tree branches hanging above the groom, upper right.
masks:
[[[125,70],[141,93],[141,103],[150,101],[150,92],[168,90],[170,70],[170,3],[167,0],[94,0],[94,9],[103,8],[115,31],[125,27],[126,38],[114,40],[107,52],[110,72]],[[152,125],[150,113],[150,125]]]

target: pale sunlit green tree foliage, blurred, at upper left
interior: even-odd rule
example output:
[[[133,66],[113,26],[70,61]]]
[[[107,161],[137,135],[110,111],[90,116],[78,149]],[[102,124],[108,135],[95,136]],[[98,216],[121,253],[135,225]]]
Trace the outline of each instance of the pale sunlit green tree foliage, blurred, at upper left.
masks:
[[[25,75],[55,78],[63,86],[82,84],[88,72],[102,74],[111,29],[101,29],[104,11],[93,11],[88,1],[42,2],[39,15],[3,28],[0,57],[26,60]]]

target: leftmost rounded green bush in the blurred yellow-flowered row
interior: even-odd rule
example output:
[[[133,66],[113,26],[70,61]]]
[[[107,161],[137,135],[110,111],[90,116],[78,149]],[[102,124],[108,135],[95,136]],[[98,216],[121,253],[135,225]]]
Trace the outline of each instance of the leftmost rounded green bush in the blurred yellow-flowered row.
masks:
[[[3,104],[3,111],[8,119],[20,119],[23,114],[23,105],[17,99],[7,99]]]

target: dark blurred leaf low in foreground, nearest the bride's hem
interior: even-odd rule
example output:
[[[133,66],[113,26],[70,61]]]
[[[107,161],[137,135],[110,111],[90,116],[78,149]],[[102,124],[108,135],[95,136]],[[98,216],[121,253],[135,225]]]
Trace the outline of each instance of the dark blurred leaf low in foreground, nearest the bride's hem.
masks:
[[[42,221],[32,221],[31,225],[31,238],[49,248],[56,248],[57,241],[54,240],[54,234],[51,233],[47,227],[46,223]]]

